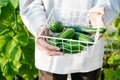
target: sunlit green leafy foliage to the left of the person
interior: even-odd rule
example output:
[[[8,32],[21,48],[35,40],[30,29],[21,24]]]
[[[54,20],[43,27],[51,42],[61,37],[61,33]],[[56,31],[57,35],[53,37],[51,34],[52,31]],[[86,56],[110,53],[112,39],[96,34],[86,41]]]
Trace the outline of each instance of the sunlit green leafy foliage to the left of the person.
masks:
[[[34,80],[34,37],[19,14],[19,0],[0,0],[0,80]]]

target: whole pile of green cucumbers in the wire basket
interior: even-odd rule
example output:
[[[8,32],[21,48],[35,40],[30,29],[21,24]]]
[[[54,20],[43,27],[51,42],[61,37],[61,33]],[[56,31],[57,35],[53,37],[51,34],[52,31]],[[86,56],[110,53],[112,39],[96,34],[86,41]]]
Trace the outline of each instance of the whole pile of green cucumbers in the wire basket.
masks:
[[[66,54],[74,54],[80,53],[85,46],[93,45],[94,39],[88,35],[95,34],[97,28],[79,25],[64,26],[61,21],[53,21],[50,23],[50,30],[59,35],[50,39],[49,43],[58,46]],[[100,28],[100,33],[105,31],[105,28]]]

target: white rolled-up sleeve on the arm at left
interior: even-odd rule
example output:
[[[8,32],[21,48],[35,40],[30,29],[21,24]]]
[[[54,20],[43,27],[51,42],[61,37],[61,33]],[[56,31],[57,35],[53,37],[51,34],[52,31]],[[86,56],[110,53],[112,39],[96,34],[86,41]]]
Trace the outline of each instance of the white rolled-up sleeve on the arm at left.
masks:
[[[28,30],[36,36],[47,17],[42,0],[20,0],[20,15]]]

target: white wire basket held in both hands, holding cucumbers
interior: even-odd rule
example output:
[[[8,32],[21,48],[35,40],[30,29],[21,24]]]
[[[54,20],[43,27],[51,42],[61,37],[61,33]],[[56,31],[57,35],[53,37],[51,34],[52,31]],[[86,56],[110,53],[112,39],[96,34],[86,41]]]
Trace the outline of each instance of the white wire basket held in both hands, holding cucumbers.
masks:
[[[51,22],[61,21],[64,26],[80,25],[80,26],[91,27],[87,15],[88,15],[87,10],[53,8],[44,26],[45,27],[47,26],[49,29]],[[98,23],[96,33],[94,37],[92,37],[94,42],[59,38],[56,36],[58,36],[60,33],[54,33],[50,29],[49,31],[46,31],[46,33],[49,34],[47,34],[46,36],[40,35],[39,37],[44,38],[51,45],[60,47],[63,53],[75,54],[75,53],[81,53],[82,51],[87,52],[88,48],[91,46],[92,49],[94,50],[94,45],[98,42],[98,38],[99,38],[99,29],[100,29],[100,23]],[[85,45],[83,45],[83,43],[85,43]]]

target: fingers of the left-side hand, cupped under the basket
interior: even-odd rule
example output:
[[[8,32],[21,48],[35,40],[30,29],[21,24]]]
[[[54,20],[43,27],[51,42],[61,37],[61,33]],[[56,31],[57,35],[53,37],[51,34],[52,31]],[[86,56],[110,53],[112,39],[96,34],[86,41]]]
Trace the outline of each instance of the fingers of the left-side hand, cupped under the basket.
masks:
[[[43,39],[37,39],[37,47],[39,50],[42,50],[45,54],[49,56],[61,56],[63,55],[62,52],[60,52],[60,48],[48,44],[45,40]]]

